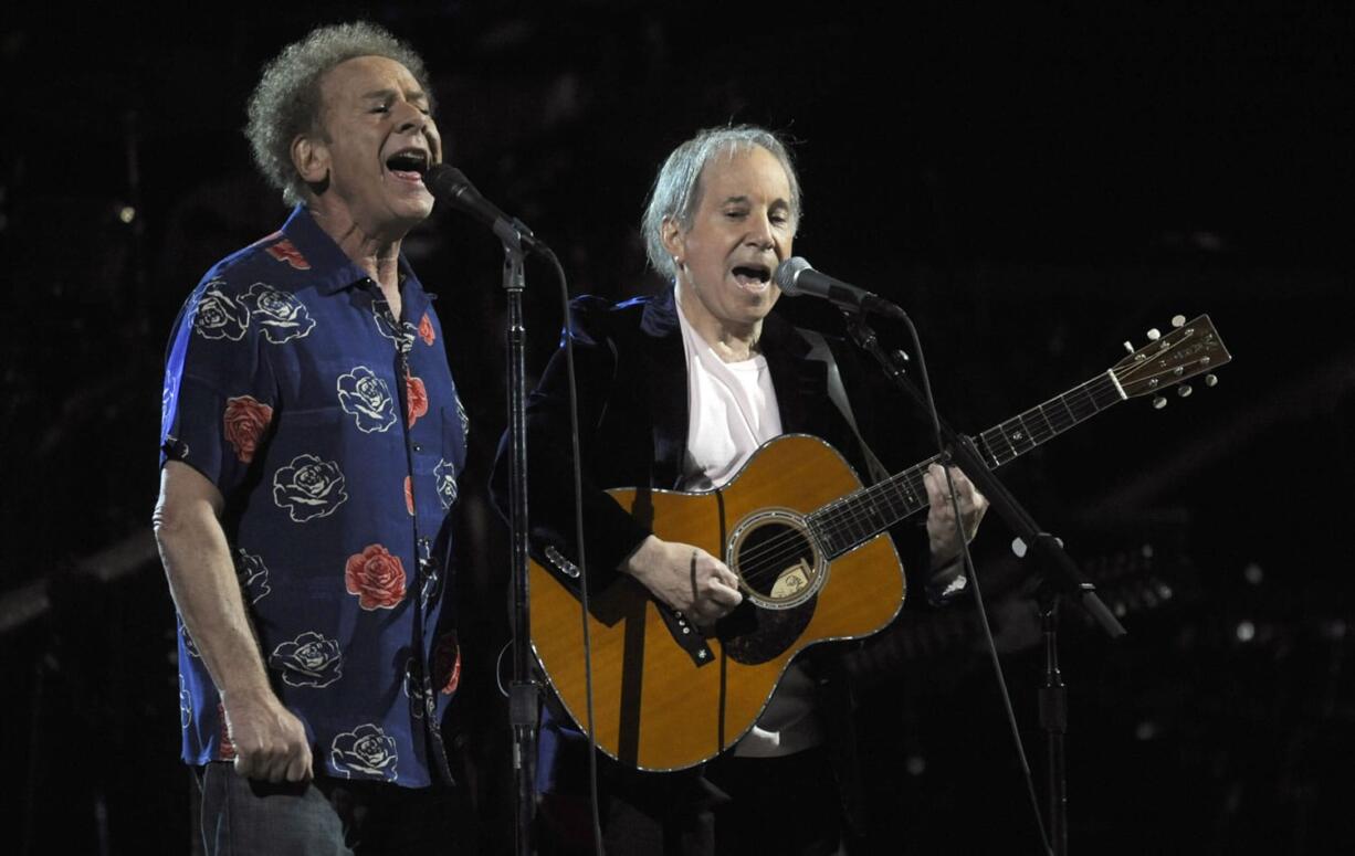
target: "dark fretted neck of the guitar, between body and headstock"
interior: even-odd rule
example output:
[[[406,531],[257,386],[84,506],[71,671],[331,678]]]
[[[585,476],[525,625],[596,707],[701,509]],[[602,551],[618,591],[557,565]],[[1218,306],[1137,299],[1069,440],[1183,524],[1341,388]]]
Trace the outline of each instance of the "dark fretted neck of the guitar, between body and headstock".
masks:
[[[984,431],[978,435],[978,451],[993,467],[1003,466],[1126,398],[1129,395],[1115,372],[1107,371]],[[900,520],[927,508],[923,473],[938,459],[939,455],[934,455],[878,485],[862,488],[810,513],[809,523],[828,558],[866,543]]]

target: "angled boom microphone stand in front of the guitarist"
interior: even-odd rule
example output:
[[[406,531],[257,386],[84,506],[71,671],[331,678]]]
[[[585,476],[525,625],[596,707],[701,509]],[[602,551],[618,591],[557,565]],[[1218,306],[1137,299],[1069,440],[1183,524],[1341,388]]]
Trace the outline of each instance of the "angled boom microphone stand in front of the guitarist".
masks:
[[[883,368],[885,375],[917,401],[924,410],[931,410],[925,395],[904,372],[904,355],[886,354],[879,345],[875,330],[860,314],[847,314],[847,329],[852,339],[867,351]],[[1047,744],[1047,796],[1049,825],[1053,852],[1056,856],[1068,853],[1068,777],[1064,756],[1064,734],[1068,731],[1068,700],[1062,676],[1058,670],[1058,604],[1064,596],[1073,596],[1077,603],[1096,620],[1110,638],[1125,635],[1125,627],[1115,619],[1104,601],[1096,596],[1096,586],[1088,581],[1062,543],[1043,531],[1007,486],[1003,485],[984,462],[974,440],[955,433],[939,416],[936,417],[944,451],[942,463],[951,459],[969,477],[980,493],[988,497],[989,508],[1007,521],[1016,536],[1028,546],[1027,554],[1038,557],[1043,569],[1039,585],[1041,616],[1045,638],[1045,684],[1039,692],[1039,722]],[[970,569],[973,572],[973,569]]]

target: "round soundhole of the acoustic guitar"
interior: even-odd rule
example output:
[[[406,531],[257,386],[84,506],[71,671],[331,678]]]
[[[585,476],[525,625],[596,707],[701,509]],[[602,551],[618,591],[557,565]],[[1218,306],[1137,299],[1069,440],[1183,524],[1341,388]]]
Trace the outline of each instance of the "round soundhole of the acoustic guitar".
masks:
[[[789,609],[818,591],[824,563],[798,517],[778,512],[760,517],[736,531],[729,565],[753,603]]]

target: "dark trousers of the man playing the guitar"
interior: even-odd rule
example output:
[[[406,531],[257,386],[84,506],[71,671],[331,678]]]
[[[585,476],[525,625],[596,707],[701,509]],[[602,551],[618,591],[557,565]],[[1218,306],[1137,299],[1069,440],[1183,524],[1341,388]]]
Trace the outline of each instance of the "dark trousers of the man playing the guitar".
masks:
[[[644,773],[599,757],[607,856],[831,856],[844,852],[837,784],[818,748],[779,758],[726,756],[705,769]],[[592,853],[588,795],[543,794],[542,856]]]

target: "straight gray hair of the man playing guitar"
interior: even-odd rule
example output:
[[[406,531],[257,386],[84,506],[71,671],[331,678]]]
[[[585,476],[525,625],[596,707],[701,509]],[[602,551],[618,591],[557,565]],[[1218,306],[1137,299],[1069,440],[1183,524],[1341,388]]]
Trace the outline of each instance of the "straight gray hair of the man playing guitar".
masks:
[[[645,217],[641,221],[645,252],[649,255],[649,264],[664,278],[673,279],[678,275],[673,260],[664,248],[664,221],[676,221],[683,232],[691,229],[696,207],[701,205],[701,173],[706,164],[713,157],[729,157],[748,152],[753,146],[767,149],[780,161],[780,168],[786,171],[786,179],[790,181],[790,218],[795,226],[799,225],[799,177],[795,175],[786,144],[776,134],[752,125],[707,127],[673,149],[659,171],[654,187],[649,191],[649,202],[645,205]]]

